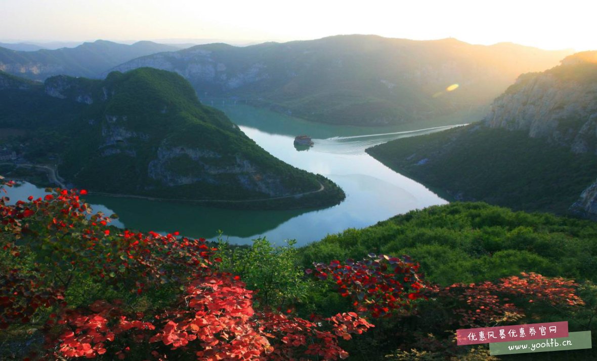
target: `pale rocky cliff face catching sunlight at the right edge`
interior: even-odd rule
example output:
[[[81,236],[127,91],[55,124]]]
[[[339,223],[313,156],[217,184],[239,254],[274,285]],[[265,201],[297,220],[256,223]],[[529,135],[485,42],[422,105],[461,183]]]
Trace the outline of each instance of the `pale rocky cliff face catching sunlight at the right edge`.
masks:
[[[519,77],[494,100],[485,124],[597,154],[597,64],[582,59],[577,54],[550,71]]]

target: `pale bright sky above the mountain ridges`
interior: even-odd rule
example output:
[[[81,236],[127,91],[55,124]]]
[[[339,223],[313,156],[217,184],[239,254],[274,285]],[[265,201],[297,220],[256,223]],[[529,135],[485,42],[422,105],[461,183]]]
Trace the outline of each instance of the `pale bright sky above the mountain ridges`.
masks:
[[[338,34],[597,50],[595,0],[0,0],[0,41],[291,41]]]

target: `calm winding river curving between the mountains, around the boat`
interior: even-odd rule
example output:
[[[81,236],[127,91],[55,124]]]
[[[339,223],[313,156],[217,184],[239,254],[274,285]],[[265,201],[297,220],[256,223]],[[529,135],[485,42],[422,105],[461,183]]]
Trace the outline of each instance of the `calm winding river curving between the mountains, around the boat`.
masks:
[[[421,123],[383,129],[328,126],[245,105],[214,103],[214,106],[226,112],[247,136],[275,157],[336,182],[346,192],[346,200],[327,209],[261,212],[97,195],[88,195],[88,203],[96,211],[118,214],[119,219],[113,222],[118,227],[180,231],[189,237],[208,239],[221,230],[231,243],[251,243],[254,238],[266,236],[278,244],[296,239],[298,245],[346,228],[367,227],[409,210],[447,203],[420,183],[393,172],[365,153],[365,148],[391,139],[446,127]],[[299,134],[313,137],[315,146],[297,151],[293,140]],[[23,183],[10,189],[9,195],[11,201],[16,201],[43,192],[35,185]]]

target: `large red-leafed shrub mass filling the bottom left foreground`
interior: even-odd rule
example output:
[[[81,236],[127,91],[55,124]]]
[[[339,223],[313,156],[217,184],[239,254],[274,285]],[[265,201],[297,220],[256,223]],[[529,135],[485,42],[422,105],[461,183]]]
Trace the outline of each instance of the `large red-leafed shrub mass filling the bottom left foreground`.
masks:
[[[204,239],[110,228],[85,193],[0,201],[0,326],[42,331],[44,359],[336,360],[373,326],[256,309]]]

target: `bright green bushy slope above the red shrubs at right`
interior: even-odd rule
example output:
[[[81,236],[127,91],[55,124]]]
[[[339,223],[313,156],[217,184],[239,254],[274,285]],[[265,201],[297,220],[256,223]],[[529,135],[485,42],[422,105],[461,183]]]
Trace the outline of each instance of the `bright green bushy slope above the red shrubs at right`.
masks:
[[[350,228],[300,249],[304,265],[409,255],[426,278],[448,285],[521,272],[597,281],[597,224],[487,203],[413,210],[361,230]]]

